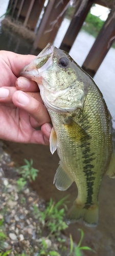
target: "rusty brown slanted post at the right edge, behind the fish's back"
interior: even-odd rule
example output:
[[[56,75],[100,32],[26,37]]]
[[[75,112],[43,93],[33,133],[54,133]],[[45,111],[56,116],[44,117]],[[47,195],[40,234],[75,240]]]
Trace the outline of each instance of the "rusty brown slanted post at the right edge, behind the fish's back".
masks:
[[[82,69],[94,77],[115,38],[115,9],[111,10],[93,47],[88,53]]]

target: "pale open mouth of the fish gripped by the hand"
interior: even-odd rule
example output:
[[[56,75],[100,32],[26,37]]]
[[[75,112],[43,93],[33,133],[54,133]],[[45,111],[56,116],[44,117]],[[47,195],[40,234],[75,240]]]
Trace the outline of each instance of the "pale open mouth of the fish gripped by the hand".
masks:
[[[24,76],[36,82],[41,82],[40,74],[52,65],[52,57],[55,48],[56,47],[53,45],[48,44],[29,65],[25,66],[20,71],[20,76]]]

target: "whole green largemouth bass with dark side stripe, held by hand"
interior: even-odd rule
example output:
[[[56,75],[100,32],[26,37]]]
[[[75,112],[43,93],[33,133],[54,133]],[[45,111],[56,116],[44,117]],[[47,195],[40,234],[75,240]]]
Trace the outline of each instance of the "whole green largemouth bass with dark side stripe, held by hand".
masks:
[[[82,219],[97,226],[102,178],[115,176],[112,117],[102,93],[68,53],[51,44],[20,75],[37,82],[52,120],[50,151],[60,158],[56,187],[66,190],[75,182],[78,188],[68,223]]]

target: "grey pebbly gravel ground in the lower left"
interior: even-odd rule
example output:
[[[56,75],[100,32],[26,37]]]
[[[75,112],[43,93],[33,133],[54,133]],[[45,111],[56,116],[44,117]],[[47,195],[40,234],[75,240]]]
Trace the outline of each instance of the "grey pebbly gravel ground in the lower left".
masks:
[[[40,221],[33,210],[33,204],[43,211],[46,208],[44,200],[27,185],[23,190],[17,187],[17,172],[10,155],[4,152],[4,144],[0,142],[0,221],[4,219],[0,232],[7,238],[1,241],[0,252],[11,250],[10,256],[50,255],[49,251],[57,251],[52,255],[70,255],[70,239],[60,233],[61,243],[55,236],[49,236],[45,222]],[[10,179],[10,174],[14,179]],[[10,176],[11,177],[11,176]],[[45,241],[45,253],[41,253]],[[62,242],[64,239],[64,242]],[[59,254],[58,254],[59,253]]]

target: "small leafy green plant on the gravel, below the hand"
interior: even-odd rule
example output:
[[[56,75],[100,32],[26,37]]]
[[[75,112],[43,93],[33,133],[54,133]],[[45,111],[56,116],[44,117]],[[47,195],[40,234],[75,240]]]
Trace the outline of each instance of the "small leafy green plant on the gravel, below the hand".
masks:
[[[19,168],[19,174],[24,178],[24,180],[34,181],[37,177],[38,169],[33,168],[33,160],[30,159],[30,162],[27,159],[24,159],[26,165],[23,165]]]

